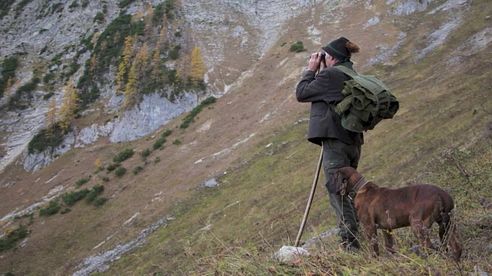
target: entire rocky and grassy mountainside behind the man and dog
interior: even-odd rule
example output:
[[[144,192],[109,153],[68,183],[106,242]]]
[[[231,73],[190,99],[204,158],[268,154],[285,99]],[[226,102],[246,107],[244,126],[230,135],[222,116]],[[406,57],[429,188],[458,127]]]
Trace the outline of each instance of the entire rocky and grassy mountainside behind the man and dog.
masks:
[[[492,271],[487,0],[0,8],[0,273]],[[361,172],[450,191],[461,268],[445,253],[411,253],[404,231],[401,256],[347,255],[328,237],[294,266],[270,259],[295,236],[319,150],[305,141],[295,85],[308,53],[341,35],[361,46],[356,68],[401,106],[366,133]],[[321,191],[306,237],[335,225],[327,210]]]

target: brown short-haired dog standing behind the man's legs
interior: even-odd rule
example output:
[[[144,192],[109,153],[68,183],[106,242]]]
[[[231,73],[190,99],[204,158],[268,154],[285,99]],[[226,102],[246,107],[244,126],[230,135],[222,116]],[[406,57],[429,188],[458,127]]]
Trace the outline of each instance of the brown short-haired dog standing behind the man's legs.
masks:
[[[453,259],[459,261],[462,248],[456,227],[451,223],[454,204],[447,192],[437,186],[424,184],[399,189],[378,187],[366,181],[351,167],[339,169],[335,177],[337,193],[356,193],[354,207],[376,255],[379,255],[377,229],[385,230],[385,247],[393,253],[392,229],[411,226],[422,246],[432,248],[429,233],[432,224],[436,222],[441,243],[447,241]]]

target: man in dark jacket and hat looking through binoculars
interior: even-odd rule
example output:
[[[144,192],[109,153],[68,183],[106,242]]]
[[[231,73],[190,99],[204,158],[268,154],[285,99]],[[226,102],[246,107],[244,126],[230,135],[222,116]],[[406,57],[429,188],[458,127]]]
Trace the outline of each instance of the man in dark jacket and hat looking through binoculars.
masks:
[[[338,219],[341,245],[348,250],[358,249],[356,239],[358,223],[356,212],[348,197],[337,196],[334,174],[338,168],[357,168],[363,137],[342,127],[335,105],[343,99],[344,82],[350,77],[334,68],[335,65],[350,69],[352,53],[359,47],[345,37],[328,43],[320,53],[313,53],[308,68],[297,85],[296,97],[299,102],[311,103],[308,140],[323,147],[323,169],[326,188]],[[318,74],[316,74],[318,72]]]

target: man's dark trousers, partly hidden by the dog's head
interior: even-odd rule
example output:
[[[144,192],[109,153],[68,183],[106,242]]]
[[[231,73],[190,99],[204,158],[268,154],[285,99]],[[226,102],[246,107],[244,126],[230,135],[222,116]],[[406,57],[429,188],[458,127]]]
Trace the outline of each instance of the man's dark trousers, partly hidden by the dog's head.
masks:
[[[353,202],[347,196],[336,195],[335,172],[342,167],[357,168],[361,146],[349,145],[338,139],[323,140],[323,169],[326,177],[326,188],[337,216],[340,237],[343,242],[351,243],[357,234],[358,222]]]

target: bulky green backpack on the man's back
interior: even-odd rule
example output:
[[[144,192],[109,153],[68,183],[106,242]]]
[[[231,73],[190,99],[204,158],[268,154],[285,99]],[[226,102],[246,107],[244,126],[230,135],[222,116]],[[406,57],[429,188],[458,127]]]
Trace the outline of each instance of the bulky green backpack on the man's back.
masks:
[[[335,68],[351,77],[345,81],[344,99],[335,107],[345,129],[363,132],[373,129],[383,119],[393,118],[399,103],[382,81],[374,76],[359,75],[342,65]]]

